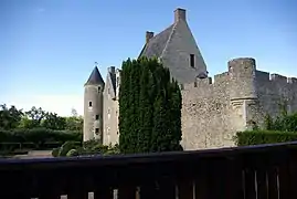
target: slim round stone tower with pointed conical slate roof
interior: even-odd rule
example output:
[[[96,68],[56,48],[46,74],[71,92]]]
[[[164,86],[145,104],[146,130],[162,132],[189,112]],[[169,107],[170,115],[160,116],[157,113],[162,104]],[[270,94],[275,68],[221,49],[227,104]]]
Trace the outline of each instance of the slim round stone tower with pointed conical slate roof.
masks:
[[[105,83],[95,66],[85,83],[84,93],[84,142],[103,140],[103,92]]]

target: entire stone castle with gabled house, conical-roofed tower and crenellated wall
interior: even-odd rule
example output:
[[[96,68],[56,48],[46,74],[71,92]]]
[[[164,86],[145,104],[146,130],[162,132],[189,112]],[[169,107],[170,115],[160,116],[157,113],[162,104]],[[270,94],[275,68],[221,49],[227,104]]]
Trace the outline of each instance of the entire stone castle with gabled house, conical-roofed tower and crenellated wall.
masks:
[[[297,78],[257,71],[252,57],[231,60],[227,72],[209,77],[184,9],[160,33],[146,32],[139,56],[157,56],[181,84],[184,149],[233,146],[236,132],[261,126],[279,103],[297,111]],[[85,83],[84,140],[118,142],[119,74],[110,66],[104,81],[96,66]]]

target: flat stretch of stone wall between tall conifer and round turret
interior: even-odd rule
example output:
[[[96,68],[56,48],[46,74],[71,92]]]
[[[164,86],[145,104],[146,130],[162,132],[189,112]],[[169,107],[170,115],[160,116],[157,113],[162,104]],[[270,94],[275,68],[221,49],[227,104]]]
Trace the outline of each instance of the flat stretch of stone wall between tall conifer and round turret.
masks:
[[[182,90],[182,146],[184,149],[232,145],[227,73],[198,80]]]

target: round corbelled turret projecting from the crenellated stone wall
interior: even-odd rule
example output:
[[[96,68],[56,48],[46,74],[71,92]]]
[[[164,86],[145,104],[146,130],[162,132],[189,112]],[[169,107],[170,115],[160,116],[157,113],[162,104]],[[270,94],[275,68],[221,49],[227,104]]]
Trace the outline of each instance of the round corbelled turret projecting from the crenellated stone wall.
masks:
[[[238,57],[229,61],[227,66],[234,128],[252,128],[256,125],[258,116],[256,61],[252,57]]]

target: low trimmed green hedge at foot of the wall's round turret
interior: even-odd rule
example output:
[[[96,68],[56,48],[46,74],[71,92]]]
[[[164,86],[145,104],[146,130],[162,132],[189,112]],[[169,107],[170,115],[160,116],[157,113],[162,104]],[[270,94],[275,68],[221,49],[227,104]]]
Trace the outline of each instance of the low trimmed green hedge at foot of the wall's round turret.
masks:
[[[297,140],[296,132],[248,130],[238,132],[235,136],[237,146],[286,143]]]

